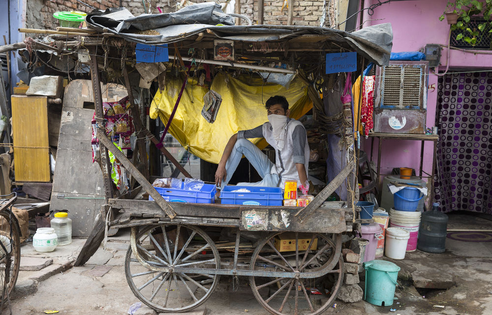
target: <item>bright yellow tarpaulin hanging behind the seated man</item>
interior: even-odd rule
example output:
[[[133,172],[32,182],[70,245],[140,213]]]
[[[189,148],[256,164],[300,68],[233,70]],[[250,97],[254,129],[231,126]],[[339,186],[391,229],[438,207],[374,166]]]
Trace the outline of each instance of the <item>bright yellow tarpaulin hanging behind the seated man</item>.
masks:
[[[197,78],[188,78],[178,110],[171,122],[169,132],[181,145],[199,158],[218,163],[229,138],[239,130],[257,127],[268,121],[264,103],[270,96],[283,95],[290,105],[290,117],[299,119],[312,108],[307,96],[307,84],[295,78],[289,88],[277,84],[264,84],[262,79],[242,75],[233,78],[219,73],[211,88],[222,96],[222,104],[214,123],[202,116],[203,96],[207,87],[198,86]],[[171,115],[183,79],[166,78],[164,91],[154,96],[150,117],[157,116],[166,123]],[[258,147],[267,145],[263,139],[250,139]]]

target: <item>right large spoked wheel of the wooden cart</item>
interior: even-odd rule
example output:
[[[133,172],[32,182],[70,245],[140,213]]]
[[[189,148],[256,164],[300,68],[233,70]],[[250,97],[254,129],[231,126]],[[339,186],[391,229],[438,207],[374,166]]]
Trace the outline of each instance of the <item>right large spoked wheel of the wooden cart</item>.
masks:
[[[249,282],[258,302],[270,313],[276,315],[317,315],[330,307],[335,299],[343,276],[343,261],[340,255],[341,242],[338,234],[334,241],[319,233],[295,234],[295,250],[278,252],[275,238],[280,232],[265,239],[251,257],[251,270],[290,272],[290,277],[249,277]],[[299,236],[309,239],[299,249]],[[307,235],[304,236],[304,235]],[[314,244],[316,242],[317,244]],[[305,243],[306,244],[306,243]],[[309,248],[311,247],[311,248]]]

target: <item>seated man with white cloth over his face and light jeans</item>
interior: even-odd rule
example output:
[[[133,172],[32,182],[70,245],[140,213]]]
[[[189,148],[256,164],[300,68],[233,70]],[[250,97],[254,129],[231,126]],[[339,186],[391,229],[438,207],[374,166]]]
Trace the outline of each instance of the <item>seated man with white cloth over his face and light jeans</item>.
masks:
[[[285,181],[297,180],[301,191],[307,190],[309,145],[306,129],[301,122],[289,118],[289,103],[285,97],[270,97],[265,108],[268,122],[241,130],[229,139],[215,172],[217,187],[227,185],[244,155],[263,179],[256,183],[238,183],[239,186],[283,187]],[[247,140],[262,137],[275,149],[275,164]]]

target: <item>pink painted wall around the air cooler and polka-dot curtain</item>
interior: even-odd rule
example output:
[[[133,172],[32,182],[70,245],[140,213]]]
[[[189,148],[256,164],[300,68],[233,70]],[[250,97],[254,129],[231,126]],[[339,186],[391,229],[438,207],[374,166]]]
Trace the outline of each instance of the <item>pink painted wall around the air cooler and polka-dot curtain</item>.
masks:
[[[365,0],[365,7],[369,7],[376,0]],[[426,44],[448,45],[449,25],[446,20],[439,21],[439,16],[446,7],[447,0],[415,0],[395,1],[383,4],[374,9],[369,16],[364,12],[364,27],[381,23],[391,23],[393,28],[393,52],[418,51]],[[367,21],[367,22],[366,22]],[[491,68],[492,55],[473,54],[473,52],[450,51],[450,69],[463,68]],[[447,48],[441,52],[439,70],[444,71],[447,65]],[[437,76],[429,76],[429,85],[435,89],[428,91],[427,126],[435,125],[437,102]],[[374,141],[373,160],[377,161],[377,140]],[[370,154],[370,139],[366,140],[364,150]],[[390,141],[382,142],[381,173],[387,174],[392,168],[411,167],[419,169],[421,143],[417,141]],[[431,173],[432,143],[428,142],[424,149],[425,172]]]

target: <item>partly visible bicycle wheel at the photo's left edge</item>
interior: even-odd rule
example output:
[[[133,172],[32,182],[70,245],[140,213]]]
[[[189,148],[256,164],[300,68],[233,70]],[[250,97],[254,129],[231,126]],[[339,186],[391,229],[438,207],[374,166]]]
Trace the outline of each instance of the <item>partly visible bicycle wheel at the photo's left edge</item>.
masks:
[[[0,246],[0,292],[6,288],[10,295],[19,276],[21,262],[19,227],[17,219],[10,211],[0,213],[0,241],[6,250],[5,252]],[[6,299],[6,297],[4,292],[2,298]]]

